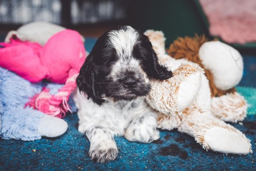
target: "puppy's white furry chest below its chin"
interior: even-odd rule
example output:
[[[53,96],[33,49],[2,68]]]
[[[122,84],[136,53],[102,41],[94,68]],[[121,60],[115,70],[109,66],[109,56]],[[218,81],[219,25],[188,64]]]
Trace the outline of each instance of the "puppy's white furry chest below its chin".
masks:
[[[74,100],[78,107],[79,132],[84,133],[94,125],[112,129],[115,135],[123,135],[131,121],[145,110],[143,98],[133,101],[106,101],[103,105],[95,104],[91,99],[75,93]]]

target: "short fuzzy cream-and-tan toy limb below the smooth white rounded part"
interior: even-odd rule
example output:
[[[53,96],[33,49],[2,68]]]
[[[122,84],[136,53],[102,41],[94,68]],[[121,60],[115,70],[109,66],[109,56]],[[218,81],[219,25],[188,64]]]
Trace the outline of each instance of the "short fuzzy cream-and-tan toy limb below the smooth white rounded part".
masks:
[[[239,93],[227,93],[220,97],[213,97],[211,114],[218,119],[237,123],[246,117],[247,103]]]

